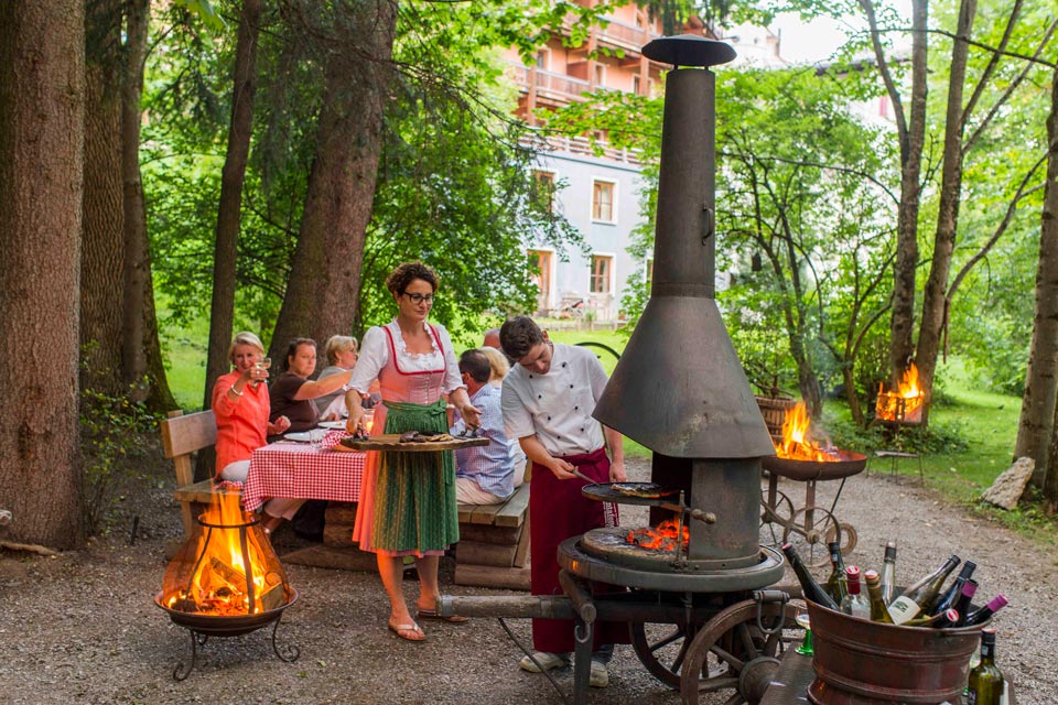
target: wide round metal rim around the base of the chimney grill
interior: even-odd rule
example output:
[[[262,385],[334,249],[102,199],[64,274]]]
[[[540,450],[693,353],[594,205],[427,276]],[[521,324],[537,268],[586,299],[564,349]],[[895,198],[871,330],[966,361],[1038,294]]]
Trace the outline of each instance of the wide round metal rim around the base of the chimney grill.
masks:
[[[782,555],[768,546],[760,546],[755,565],[703,570],[693,561],[677,563],[670,552],[629,544],[627,535],[628,528],[614,527],[566,539],[559,545],[559,565],[596,583],[680,593],[754,590],[782,577]]]

